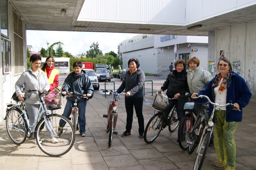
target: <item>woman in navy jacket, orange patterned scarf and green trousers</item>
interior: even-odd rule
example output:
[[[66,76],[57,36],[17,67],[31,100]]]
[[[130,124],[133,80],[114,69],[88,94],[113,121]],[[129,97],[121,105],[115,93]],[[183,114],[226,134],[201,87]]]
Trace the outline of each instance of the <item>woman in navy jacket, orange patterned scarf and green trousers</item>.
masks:
[[[234,170],[236,164],[236,144],[234,133],[238,122],[242,121],[242,108],[245,107],[251,98],[251,92],[245,80],[232,71],[232,66],[227,58],[223,57],[218,62],[220,72],[201,90],[198,95],[208,96],[212,102],[224,105],[232,101],[236,108],[221,107],[215,112],[215,124],[213,126],[214,146],[218,158],[216,167],[223,167],[225,170]],[[195,97],[193,93],[191,97]],[[201,100],[201,99],[197,99]],[[202,99],[203,100],[203,99]],[[218,108],[217,108],[218,109]],[[209,105],[209,113],[212,113],[213,106]]]

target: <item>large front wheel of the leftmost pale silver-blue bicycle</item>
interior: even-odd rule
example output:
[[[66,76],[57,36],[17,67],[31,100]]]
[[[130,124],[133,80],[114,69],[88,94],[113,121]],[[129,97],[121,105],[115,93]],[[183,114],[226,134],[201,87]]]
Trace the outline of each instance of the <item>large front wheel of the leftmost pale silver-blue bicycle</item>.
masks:
[[[47,122],[41,119],[35,129],[38,147],[52,157],[66,154],[75,142],[75,130],[71,122],[66,117],[57,114],[47,115],[46,119]],[[45,125],[42,128],[41,125],[43,124]],[[50,129],[47,128],[46,124]],[[59,124],[63,126],[59,127]]]

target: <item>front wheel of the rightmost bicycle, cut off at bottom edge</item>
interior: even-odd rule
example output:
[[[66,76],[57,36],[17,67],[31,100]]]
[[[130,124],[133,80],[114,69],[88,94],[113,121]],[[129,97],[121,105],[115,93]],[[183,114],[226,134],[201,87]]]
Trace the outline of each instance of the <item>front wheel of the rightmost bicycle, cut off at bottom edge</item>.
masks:
[[[194,163],[193,170],[200,170],[203,166],[203,161],[206,156],[207,148],[211,138],[211,132],[207,131],[202,137],[203,137],[203,140],[201,144],[198,146],[199,148],[197,149],[198,152],[197,152],[197,157]]]

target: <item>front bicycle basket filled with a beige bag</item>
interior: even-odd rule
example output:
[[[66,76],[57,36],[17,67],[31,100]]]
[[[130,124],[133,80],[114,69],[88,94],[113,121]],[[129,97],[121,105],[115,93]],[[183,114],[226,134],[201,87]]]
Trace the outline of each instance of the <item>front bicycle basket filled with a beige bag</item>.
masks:
[[[169,107],[169,101],[166,94],[157,93],[152,105],[155,109],[165,112]]]

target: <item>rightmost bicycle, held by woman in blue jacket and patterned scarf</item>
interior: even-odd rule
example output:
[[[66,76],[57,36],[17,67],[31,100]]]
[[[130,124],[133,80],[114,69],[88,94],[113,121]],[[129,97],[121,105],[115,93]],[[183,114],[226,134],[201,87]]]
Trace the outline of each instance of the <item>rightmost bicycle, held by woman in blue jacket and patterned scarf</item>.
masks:
[[[197,151],[196,151],[197,157],[196,157],[194,167],[193,167],[194,170],[200,170],[203,166],[203,161],[206,157],[207,148],[208,148],[210,138],[212,135],[212,126],[214,125],[214,123],[212,122],[212,119],[213,119],[214,113],[216,111],[216,107],[226,107],[226,106],[230,105],[232,108],[236,108],[236,109],[238,109],[238,108],[236,107],[236,105],[232,104],[232,101],[229,101],[229,103],[224,104],[224,105],[220,105],[218,103],[213,103],[209,99],[209,97],[207,97],[206,95],[199,95],[198,97],[194,97],[194,98],[205,98],[206,100],[209,101],[210,104],[213,105],[213,108],[214,108],[212,110],[209,120],[205,124],[203,124],[202,131],[200,131],[201,138],[200,138],[200,141],[197,146]]]

